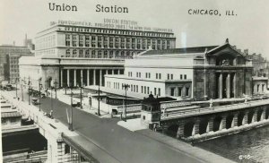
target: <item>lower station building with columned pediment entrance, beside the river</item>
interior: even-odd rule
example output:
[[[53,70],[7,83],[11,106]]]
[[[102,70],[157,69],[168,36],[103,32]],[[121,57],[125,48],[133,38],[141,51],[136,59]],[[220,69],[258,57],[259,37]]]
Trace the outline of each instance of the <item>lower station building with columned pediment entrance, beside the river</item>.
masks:
[[[252,64],[230,46],[149,50],[127,60],[124,75],[106,75],[106,87],[137,96],[230,99],[252,94]]]

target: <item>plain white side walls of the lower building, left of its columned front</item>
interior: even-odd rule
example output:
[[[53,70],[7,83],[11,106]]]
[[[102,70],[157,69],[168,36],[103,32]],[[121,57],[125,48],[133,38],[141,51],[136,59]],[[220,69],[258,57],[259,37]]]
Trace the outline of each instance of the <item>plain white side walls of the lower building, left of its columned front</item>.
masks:
[[[105,87],[159,97],[192,98],[193,56],[136,56],[126,60],[125,74],[106,75]]]

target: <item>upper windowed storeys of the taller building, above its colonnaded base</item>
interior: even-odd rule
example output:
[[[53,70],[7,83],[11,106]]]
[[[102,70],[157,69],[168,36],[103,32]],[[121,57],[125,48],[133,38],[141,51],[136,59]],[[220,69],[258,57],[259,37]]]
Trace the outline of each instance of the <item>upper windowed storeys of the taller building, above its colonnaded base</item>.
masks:
[[[126,30],[83,21],[52,24],[38,33],[36,56],[130,58],[149,48],[169,49],[176,44],[171,30]]]

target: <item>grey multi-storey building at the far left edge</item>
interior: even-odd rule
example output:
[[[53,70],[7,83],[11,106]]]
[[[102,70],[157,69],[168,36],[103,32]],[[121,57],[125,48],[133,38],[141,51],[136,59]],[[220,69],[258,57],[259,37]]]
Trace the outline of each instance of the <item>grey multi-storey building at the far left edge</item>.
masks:
[[[19,78],[19,58],[33,56],[27,47],[0,46],[0,82],[15,82]]]

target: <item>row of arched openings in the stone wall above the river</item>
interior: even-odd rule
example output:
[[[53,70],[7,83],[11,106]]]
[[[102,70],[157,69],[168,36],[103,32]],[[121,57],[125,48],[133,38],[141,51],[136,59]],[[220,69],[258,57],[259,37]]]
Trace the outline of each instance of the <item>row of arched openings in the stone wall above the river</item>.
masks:
[[[254,114],[253,116],[251,117],[251,122],[250,124],[252,123],[255,123],[258,121],[258,117],[257,117],[257,112],[258,110],[256,109],[254,111]],[[244,112],[244,117],[242,118],[242,121],[240,122],[241,125],[244,125],[244,124],[248,124],[248,113],[249,111],[245,111]],[[262,110],[262,113],[261,113],[261,116],[259,117],[259,120],[262,121],[264,119],[266,119],[265,117],[265,114],[266,114],[266,108],[263,108]],[[226,121],[227,121],[227,117],[228,116],[221,116],[221,123],[219,125],[219,128],[217,131],[221,131],[223,129],[226,129],[227,126],[226,126]],[[178,133],[177,133],[177,138],[180,138],[180,137],[183,137],[184,136],[184,127],[185,127],[185,123],[184,121],[180,121],[179,122],[179,126],[178,126]],[[201,120],[200,119],[195,119],[195,124],[193,125],[193,128],[192,128],[192,134],[191,136],[195,136],[195,134],[199,134],[199,130],[200,130],[200,123],[201,123]],[[205,133],[210,133],[210,132],[213,132],[213,123],[214,123],[214,117],[211,117],[207,123],[207,126],[206,126],[206,132]],[[233,127],[236,127],[236,126],[239,126],[239,113],[234,113],[233,115],[233,118],[232,118],[232,121],[231,121],[231,124],[230,124],[230,128],[233,128]]]

